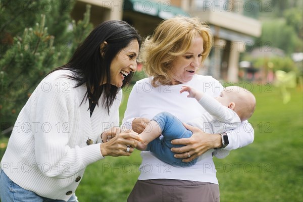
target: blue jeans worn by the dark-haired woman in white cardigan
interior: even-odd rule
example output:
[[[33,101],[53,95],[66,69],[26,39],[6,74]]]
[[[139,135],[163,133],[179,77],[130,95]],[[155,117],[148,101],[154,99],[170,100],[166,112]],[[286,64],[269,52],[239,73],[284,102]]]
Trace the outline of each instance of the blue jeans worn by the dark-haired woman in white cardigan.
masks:
[[[30,201],[30,202],[63,202],[64,200],[56,200],[45,198],[37,195],[35,192],[28,191],[18,184],[10,180],[10,178],[0,169],[0,197],[1,201]],[[77,196],[73,194],[68,202],[78,202]]]

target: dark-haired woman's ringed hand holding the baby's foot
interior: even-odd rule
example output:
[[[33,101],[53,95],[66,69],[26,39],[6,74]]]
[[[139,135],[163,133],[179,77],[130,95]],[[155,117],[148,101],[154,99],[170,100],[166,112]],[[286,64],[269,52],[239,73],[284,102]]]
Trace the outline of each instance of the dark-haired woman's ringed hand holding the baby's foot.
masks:
[[[116,133],[110,141],[100,144],[102,156],[130,156],[137,146],[137,141],[142,141],[133,131]]]

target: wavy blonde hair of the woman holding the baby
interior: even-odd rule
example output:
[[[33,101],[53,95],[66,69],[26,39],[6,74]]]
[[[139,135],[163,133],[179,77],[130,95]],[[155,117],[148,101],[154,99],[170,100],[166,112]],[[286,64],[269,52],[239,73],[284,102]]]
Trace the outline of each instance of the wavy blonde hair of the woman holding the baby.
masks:
[[[171,83],[172,62],[185,54],[193,38],[200,35],[204,42],[201,63],[209,56],[213,35],[210,27],[198,18],[177,16],[162,21],[152,36],[148,36],[140,50],[139,61],[148,76],[153,76],[154,87]]]

